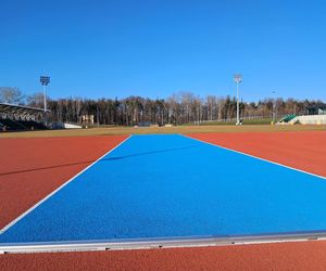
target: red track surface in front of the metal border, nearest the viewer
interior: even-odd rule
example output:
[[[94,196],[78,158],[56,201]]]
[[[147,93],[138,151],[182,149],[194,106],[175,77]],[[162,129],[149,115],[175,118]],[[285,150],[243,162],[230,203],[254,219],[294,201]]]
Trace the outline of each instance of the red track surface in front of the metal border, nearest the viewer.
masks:
[[[326,242],[0,255],[0,270],[288,270],[326,267]]]

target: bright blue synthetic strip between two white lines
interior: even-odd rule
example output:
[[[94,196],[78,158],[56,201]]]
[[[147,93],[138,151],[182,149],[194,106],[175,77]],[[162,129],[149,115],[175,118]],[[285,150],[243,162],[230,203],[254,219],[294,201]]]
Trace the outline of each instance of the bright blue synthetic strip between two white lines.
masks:
[[[0,234],[0,243],[319,230],[325,179],[184,136],[133,136]]]

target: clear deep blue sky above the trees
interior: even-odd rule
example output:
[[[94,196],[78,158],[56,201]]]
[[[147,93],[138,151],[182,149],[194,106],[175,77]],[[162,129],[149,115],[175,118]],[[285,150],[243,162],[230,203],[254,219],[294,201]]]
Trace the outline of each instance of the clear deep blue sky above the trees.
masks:
[[[49,95],[179,91],[326,101],[323,1],[0,0],[0,86]]]

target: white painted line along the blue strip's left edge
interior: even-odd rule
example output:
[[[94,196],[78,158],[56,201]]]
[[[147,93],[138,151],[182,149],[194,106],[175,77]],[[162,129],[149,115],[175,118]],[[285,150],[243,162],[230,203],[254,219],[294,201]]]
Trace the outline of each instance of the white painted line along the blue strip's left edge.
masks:
[[[106,156],[108,154],[110,154],[111,152],[113,152],[115,149],[117,149],[118,146],[121,146],[123,143],[125,143],[128,139],[130,139],[133,136],[129,136],[128,138],[126,138],[125,140],[123,140],[122,142],[120,142],[116,146],[114,146],[113,149],[111,149],[109,152],[106,152],[105,154],[103,154],[100,158],[98,158],[96,162],[93,162],[92,164],[90,164],[88,167],[84,168],[82,171],[79,171],[77,175],[75,175],[73,178],[71,178],[70,180],[67,180],[65,183],[63,183],[62,185],[60,185],[57,190],[54,190],[53,192],[51,192],[50,194],[48,194],[45,198],[42,198],[41,201],[39,201],[37,204],[35,204],[34,206],[32,206],[29,209],[27,209],[26,211],[24,211],[21,216],[18,216],[16,219],[12,220],[9,224],[4,225],[1,230],[0,230],[0,234],[4,233],[5,231],[8,231],[11,227],[13,227],[15,223],[17,223],[21,219],[23,219],[25,216],[27,216],[30,211],[33,211],[35,208],[37,208],[39,205],[41,205],[43,202],[46,202],[48,198],[50,198],[51,196],[53,196],[57,192],[59,192],[60,190],[62,190],[65,185],[67,185],[68,183],[71,183],[73,180],[75,180],[78,176],[80,176],[82,173],[84,173],[86,170],[88,170],[90,167],[92,167],[95,164],[97,164],[100,159],[102,159],[104,156]]]

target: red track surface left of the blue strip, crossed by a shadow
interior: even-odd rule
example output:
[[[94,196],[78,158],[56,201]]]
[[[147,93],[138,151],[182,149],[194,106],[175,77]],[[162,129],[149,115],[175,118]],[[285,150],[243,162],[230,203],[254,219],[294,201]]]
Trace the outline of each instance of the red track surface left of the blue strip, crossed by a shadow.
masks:
[[[0,140],[0,229],[127,136]]]

